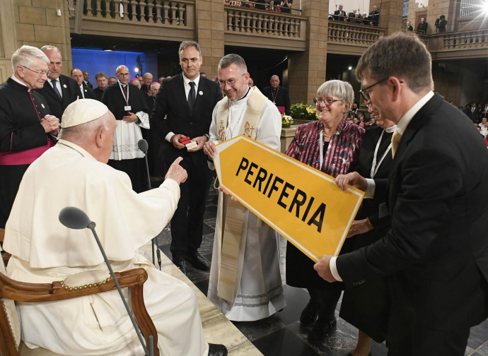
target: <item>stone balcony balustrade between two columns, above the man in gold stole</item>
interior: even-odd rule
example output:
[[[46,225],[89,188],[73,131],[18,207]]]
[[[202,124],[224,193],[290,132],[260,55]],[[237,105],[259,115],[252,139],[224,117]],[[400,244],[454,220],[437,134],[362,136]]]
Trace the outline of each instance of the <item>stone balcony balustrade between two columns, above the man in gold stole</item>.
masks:
[[[238,6],[224,6],[225,43],[243,47],[304,50],[307,18]]]

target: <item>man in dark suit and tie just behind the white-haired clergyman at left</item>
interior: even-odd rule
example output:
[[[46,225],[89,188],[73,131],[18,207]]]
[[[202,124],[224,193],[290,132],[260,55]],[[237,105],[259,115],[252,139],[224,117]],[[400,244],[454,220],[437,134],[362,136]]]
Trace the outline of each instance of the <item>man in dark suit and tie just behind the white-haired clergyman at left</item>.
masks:
[[[50,60],[50,75],[47,77],[44,87],[39,90],[39,93],[45,97],[52,114],[61,120],[64,109],[66,109],[71,102],[82,97],[81,90],[73,78],[64,76],[61,73],[62,58],[59,49],[54,46],[44,46],[41,50]]]

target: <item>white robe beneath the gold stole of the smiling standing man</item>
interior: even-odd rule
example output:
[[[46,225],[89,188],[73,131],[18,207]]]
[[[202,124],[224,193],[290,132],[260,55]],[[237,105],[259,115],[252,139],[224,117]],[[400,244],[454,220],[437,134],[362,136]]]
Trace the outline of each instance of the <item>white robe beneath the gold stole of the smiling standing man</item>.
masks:
[[[251,93],[251,92],[250,92]],[[226,127],[226,140],[238,136],[238,123],[243,124],[243,110],[247,106],[250,93],[241,100],[230,102],[229,120]],[[219,104],[217,104],[219,105]],[[210,139],[219,143],[216,123],[217,106],[212,114]],[[277,107],[267,100],[262,107],[256,126],[256,141],[279,150],[281,135],[281,116]],[[279,271],[279,251],[274,230],[262,222],[249,210],[244,213],[244,226],[241,235],[237,274],[238,290],[233,303],[217,295],[219,283],[221,221],[223,196],[219,193],[219,206],[215,226],[214,249],[210,268],[209,291],[207,297],[223,314],[232,321],[255,321],[267,318],[285,305],[283,285]]]

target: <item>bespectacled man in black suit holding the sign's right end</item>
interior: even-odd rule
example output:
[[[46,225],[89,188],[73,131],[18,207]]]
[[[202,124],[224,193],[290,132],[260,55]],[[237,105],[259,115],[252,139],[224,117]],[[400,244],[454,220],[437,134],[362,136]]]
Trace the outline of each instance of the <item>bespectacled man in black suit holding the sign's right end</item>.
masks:
[[[480,133],[434,94],[431,56],[397,32],[356,68],[366,105],[397,123],[386,194],[391,230],[368,247],[315,265],[330,282],[387,276],[388,355],[464,355],[470,327],[488,316],[488,153]],[[442,128],[442,134],[439,129]],[[364,179],[349,182],[361,190]]]

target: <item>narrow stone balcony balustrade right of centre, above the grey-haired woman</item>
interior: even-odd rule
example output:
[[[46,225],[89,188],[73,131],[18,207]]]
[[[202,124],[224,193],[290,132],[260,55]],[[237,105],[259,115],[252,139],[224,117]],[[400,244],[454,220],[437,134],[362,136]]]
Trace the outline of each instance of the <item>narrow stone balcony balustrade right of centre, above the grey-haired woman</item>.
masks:
[[[383,28],[329,21],[327,53],[360,55],[384,32]]]

